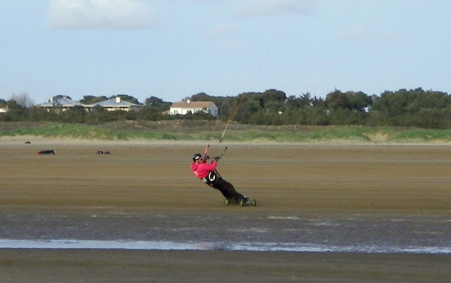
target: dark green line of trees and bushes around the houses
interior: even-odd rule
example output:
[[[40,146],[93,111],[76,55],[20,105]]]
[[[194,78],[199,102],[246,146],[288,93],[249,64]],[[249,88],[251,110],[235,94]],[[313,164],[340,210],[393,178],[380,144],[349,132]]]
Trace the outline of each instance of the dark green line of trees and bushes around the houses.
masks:
[[[151,96],[140,103],[132,96],[118,95],[121,99],[141,104],[141,111],[106,111],[96,106],[92,111],[70,108],[66,111],[55,107],[47,111],[39,106],[20,103],[20,96],[5,101],[7,113],[1,113],[1,121],[49,121],[101,124],[116,120],[233,120],[249,125],[362,125],[397,126],[435,129],[451,128],[451,97],[445,92],[417,89],[385,91],[380,96],[363,92],[341,92],[334,89],[325,99],[309,93],[286,96],[285,92],[268,89],[265,92],[246,92],[237,96],[210,96],[194,94],[185,99],[213,101],[218,106],[218,118],[205,113],[167,115],[171,102]],[[114,96],[112,96],[114,97]],[[15,99],[14,99],[15,98]],[[55,99],[57,99],[56,97]],[[84,96],[80,103],[96,103],[106,96]],[[184,100],[185,100],[184,99]],[[25,99],[26,100],[26,99]]]

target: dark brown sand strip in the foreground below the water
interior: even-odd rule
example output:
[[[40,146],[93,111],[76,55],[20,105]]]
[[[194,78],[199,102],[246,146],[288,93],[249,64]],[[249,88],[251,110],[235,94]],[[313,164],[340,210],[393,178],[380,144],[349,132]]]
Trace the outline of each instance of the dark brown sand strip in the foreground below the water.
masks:
[[[450,256],[2,250],[3,282],[449,282]]]

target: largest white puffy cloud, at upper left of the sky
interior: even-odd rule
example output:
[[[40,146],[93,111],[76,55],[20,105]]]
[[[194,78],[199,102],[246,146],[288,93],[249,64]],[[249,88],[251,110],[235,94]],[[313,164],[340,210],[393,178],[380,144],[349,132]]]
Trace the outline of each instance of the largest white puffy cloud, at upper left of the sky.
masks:
[[[156,15],[135,0],[50,0],[48,20],[54,29],[135,29],[153,27]]]

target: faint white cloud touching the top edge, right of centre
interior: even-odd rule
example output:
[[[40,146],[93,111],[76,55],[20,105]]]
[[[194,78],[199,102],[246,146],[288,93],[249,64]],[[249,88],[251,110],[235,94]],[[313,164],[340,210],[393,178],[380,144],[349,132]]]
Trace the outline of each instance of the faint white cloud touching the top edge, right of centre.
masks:
[[[312,11],[311,0],[247,0],[238,12],[243,16],[304,13]]]

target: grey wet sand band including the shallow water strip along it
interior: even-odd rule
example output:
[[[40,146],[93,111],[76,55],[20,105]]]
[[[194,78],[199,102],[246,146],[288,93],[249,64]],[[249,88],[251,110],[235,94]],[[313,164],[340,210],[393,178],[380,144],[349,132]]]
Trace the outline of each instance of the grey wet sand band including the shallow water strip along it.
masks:
[[[449,215],[0,215],[0,248],[451,253]]]

